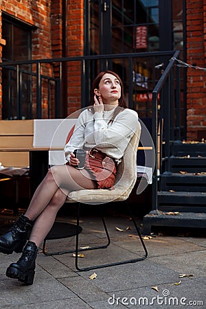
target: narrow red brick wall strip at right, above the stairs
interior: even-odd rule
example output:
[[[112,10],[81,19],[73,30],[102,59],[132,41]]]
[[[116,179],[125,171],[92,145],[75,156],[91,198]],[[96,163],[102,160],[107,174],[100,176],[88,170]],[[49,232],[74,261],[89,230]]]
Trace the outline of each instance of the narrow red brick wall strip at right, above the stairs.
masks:
[[[205,67],[206,0],[187,0],[187,63]],[[187,69],[187,139],[206,139],[206,71]]]

